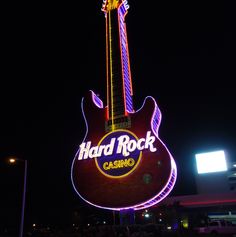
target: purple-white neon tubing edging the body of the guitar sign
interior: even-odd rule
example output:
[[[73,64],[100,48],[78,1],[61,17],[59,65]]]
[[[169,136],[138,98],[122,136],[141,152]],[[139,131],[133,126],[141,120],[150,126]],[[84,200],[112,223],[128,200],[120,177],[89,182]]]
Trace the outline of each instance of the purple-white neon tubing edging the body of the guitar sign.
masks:
[[[91,90],[91,93],[93,94],[94,92]],[[95,94],[95,93],[94,93]],[[154,104],[155,104],[155,110],[152,114],[152,118],[151,118],[151,129],[153,131],[153,133],[158,137],[158,130],[154,130],[153,128],[153,120],[155,119],[155,113],[159,113],[159,121],[157,123],[157,129],[159,128],[159,125],[160,125],[160,121],[161,121],[161,111],[159,110],[158,106],[157,106],[157,103],[156,101],[154,100],[153,97],[151,96],[147,96],[143,102],[143,105],[141,106],[141,108],[139,110],[141,110],[146,102],[146,100],[148,98],[151,98],[153,101],[154,101]],[[84,98],[82,98],[82,101],[81,101],[81,109],[82,109],[82,114],[83,114],[83,117],[84,117],[84,120],[85,120],[85,124],[86,124],[86,133],[85,133],[85,137],[82,141],[82,143],[85,141],[85,138],[87,137],[87,134],[88,134],[88,123],[87,123],[87,120],[86,120],[86,116],[85,116],[85,113],[84,113],[84,109],[83,109],[83,101],[84,101]],[[95,103],[96,105],[96,103]],[[97,105],[96,105],[97,106]],[[98,107],[98,106],[97,106]],[[101,107],[99,107],[101,108]],[[139,110],[137,110],[136,112],[138,112]],[[133,112],[136,113],[136,112]],[[159,138],[159,137],[158,137]],[[165,146],[165,144],[160,140],[160,142]],[[73,159],[73,162],[72,162],[72,166],[71,166],[71,181],[72,181],[72,185],[73,185],[73,188],[75,190],[75,192],[79,195],[79,197],[81,199],[83,199],[85,202],[87,202],[88,204],[90,205],[93,205],[95,207],[98,207],[98,208],[102,208],[102,209],[107,209],[107,210],[114,210],[114,211],[120,211],[120,210],[125,210],[125,209],[134,209],[134,210],[141,210],[141,209],[144,209],[144,208],[148,208],[150,206],[153,206],[157,203],[159,203],[160,201],[162,201],[166,196],[169,195],[169,193],[171,192],[171,190],[173,189],[174,185],[175,185],[175,182],[176,182],[176,179],[177,179],[177,167],[176,167],[176,163],[173,159],[173,157],[171,156],[169,150],[167,149],[167,147],[165,146],[167,152],[169,153],[170,157],[171,157],[171,174],[169,176],[169,179],[168,181],[166,182],[166,185],[164,186],[164,188],[157,194],[155,195],[154,197],[152,197],[151,199],[147,200],[146,202],[143,202],[143,203],[139,203],[137,205],[133,205],[133,206],[129,206],[129,207],[119,207],[119,208],[111,208],[111,207],[104,207],[104,206],[99,206],[99,205],[96,205],[92,202],[89,202],[88,200],[86,200],[84,197],[82,197],[80,195],[80,193],[77,191],[77,189],[75,188],[75,185],[74,185],[74,182],[73,182],[73,166],[74,166],[74,162],[75,162],[75,159],[76,157],[78,156],[78,153],[79,153],[79,149],[78,151],[76,152],[75,154],[75,157]],[[174,177],[172,177],[174,176]],[[171,179],[174,179],[173,181],[171,181]],[[171,183],[172,182],[172,183]],[[157,200],[158,197],[160,197],[160,195],[162,195],[163,192],[165,192],[165,189],[168,187],[168,185],[170,185],[170,188],[167,190],[167,192],[160,198]]]

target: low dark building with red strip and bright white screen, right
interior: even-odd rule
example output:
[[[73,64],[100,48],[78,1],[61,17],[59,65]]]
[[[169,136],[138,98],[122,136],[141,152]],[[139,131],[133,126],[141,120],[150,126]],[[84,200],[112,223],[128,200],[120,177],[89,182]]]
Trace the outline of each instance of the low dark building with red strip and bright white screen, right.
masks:
[[[225,219],[236,224],[236,162],[227,160],[223,151],[217,152],[204,153],[200,156],[201,164],[197,164],[196,155],[196,194],[167,197],[155,206],[156,215],[162,212],[163,222],[171,211],[172,226],[194,227],[209,219]]]

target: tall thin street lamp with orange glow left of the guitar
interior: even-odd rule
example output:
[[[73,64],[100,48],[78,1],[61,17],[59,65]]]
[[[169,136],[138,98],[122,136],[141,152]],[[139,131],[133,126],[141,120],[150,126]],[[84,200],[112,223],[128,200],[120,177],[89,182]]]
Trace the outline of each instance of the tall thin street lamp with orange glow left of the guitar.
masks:
[[[23,193],[22,193],[21,220],[20,220],[20,233],[19,233],[19,237],[23,237],[24,216],[25,216],[26,179],[27,179],[27,160],[23,160],[23,159],[19,159],[19,158],[9,158],[9,162],[11,164],[16,163],[17,161],[24,162],[24,186],[23,186]]]

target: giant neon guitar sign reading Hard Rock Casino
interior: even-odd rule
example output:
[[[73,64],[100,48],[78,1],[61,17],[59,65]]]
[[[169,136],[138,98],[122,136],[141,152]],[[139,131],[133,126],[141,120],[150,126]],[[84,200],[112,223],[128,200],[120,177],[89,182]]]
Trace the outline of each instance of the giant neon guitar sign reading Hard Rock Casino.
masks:
[[[177,177],[175,161],[158,136],[161,112],[145,98],[134,110],[125,16],[126,0],[104,0],[106,22],[106,105],[89,91],[81,107],[84,140],[73,159],[75,191],[96,207],[134,210],[163,200]]]

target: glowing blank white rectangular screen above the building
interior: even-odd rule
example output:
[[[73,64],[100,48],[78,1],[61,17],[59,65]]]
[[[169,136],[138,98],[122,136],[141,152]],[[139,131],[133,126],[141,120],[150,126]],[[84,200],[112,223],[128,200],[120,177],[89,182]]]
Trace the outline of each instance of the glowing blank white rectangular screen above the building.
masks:
[[[198,174],[227,171],[224,151],[196,154]]]

